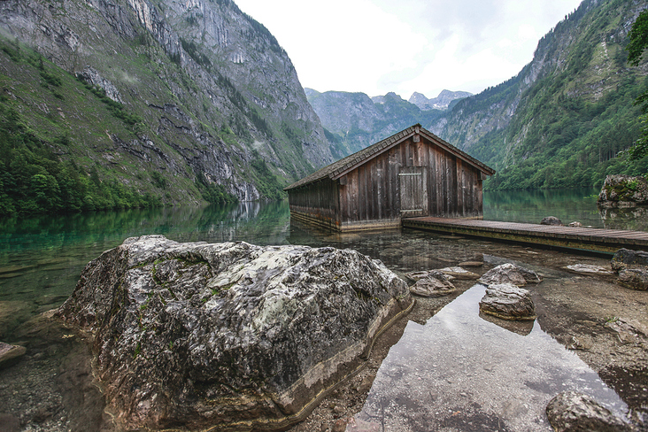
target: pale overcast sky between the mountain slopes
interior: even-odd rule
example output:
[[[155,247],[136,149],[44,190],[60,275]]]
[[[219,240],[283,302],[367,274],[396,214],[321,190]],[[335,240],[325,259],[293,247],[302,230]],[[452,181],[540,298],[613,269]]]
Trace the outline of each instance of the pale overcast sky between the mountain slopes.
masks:
[[[479,93],[521,71],[581,0],[235,0],[288,52],[303,87],[369,96]]]

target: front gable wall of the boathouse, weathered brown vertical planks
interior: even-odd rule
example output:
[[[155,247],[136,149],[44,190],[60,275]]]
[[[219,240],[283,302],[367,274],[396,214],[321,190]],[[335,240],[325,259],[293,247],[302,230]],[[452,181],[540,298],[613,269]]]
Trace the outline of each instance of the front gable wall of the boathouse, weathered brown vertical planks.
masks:
[[[399,174],[413,175],[414,167],[422,167],[423,203],[420,211],[401,212],[405,179]],[[482,216],[481,171],[422,137],[419,143],[408,139],[367,161],[346,174],[345,181],[338,186],[343,229],[398,226],[401,217]]]

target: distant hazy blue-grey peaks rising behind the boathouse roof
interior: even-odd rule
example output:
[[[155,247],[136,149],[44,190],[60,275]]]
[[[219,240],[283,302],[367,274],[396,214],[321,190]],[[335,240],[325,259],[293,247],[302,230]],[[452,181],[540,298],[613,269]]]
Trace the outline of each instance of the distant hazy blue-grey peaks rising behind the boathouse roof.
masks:
[[[305,89],[305,93],[320,117],[328,141],[333,145],[332,151],[338,158],[364,149],[415,123],[430,123],[442,114],[441,106],[451,104],[452,97],[470,95],[467,92],[444,90],[439,97],[428,99],[414,93],[425,98],[428,104],[439,106],[423,109],[413,104],[412,98],[408,102],[394,92],[374,97],[343,91],[320,93],[313,89]],[[417,100],[422,100],[420,96],[417,96]]]

